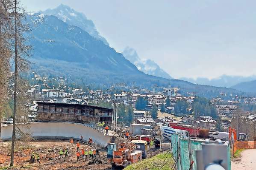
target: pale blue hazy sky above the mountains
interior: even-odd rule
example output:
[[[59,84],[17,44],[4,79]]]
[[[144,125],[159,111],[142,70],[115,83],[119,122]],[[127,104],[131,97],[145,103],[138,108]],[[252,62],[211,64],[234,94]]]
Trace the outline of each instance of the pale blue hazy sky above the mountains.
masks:
[[[135,48],[172,77],[256,74],[255,0],[21,0],[27,11],[59,4],[93,20],[110,46]]]

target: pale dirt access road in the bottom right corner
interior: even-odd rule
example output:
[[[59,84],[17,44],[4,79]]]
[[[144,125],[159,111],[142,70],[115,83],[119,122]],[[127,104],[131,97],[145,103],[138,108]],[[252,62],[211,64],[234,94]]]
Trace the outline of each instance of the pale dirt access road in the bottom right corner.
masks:
[[[256,149],[244,150],[239,159],[231,161],[232,170],[256,170]]]

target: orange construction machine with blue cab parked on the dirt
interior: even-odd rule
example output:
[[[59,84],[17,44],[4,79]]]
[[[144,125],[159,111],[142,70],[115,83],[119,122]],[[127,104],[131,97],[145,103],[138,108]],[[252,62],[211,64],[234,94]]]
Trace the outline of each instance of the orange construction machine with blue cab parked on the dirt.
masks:
[[[136,145],[133,143],[108,143],[107,158],[108,163],[115,166],[127,167],[130,164],[136,163],[142,159],[142,151],[135,150]]]

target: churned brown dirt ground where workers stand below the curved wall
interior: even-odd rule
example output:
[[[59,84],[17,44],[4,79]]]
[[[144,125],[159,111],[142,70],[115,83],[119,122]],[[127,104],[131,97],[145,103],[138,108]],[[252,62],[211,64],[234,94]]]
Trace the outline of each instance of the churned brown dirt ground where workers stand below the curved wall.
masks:
[[[75,142],[74,142],[75,143]],[[61,159],[59,156],[59,150],[61,148],[69,148],[70,156],[65,158],[65,154]],[[7,167],[10,163],[10,148],[11,142],[2,142],[0,144],[0,167]],[[81,144],[81,149],[91,149],[90,146]],[[80,158],[77,162],[76,156],[77,147],[68,141],[53,141],[53,140],[40,140],[29,142],[29,146],[24,149],[15,151],[15,170],[111,170],[111,165],[107,163],[106,151],[100,151],[102,164],[88,164],[88,160]],[[38,153],[40,156],[41,164],[29,162],[32,153]]]

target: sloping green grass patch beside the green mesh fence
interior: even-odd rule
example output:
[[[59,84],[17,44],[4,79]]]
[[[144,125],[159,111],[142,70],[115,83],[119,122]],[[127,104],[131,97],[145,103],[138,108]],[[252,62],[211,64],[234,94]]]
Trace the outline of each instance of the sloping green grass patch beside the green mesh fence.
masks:
[[[124,170],[159,170],[165,164],[165,162],[167,163],[162,167],[161,170],[170,170],[171,166],[174,164],[174,159],[171,158],[171,156],[171,153],[160,153],[152,158],[144,159],[135,164],[131,164],[124,168]]]

